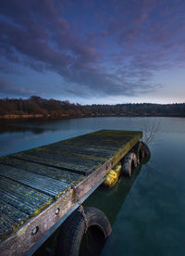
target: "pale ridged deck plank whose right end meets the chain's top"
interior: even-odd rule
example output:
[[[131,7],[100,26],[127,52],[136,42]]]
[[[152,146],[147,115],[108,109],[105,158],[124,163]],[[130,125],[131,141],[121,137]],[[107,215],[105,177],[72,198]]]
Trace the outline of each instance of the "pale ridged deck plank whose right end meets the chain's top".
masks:
[[[32,188],[54,197],[59,196],[69,188],[68,183],[57,181],[22,169],[10,167],[5,164],[0,164],[0,175],[26,186],[31,186]]]

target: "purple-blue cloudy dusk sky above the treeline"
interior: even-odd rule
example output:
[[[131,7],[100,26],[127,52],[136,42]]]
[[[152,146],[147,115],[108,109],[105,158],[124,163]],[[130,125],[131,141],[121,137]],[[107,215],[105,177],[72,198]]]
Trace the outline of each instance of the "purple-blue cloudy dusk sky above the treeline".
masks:
[[[0,97],[185,102],[184,0],[0,1]]]

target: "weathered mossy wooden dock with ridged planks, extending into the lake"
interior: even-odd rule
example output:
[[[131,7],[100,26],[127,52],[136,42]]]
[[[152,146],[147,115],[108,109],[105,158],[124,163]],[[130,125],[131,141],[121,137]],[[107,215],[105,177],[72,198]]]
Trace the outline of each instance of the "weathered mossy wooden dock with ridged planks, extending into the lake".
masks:
[[[101,130],[0,158],[0,254],[23,255],[142,138]]]

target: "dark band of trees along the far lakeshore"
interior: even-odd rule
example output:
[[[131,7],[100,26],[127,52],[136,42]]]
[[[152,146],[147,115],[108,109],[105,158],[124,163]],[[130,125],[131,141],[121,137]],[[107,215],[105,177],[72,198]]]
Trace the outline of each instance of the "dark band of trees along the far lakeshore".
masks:
[[[1,98],[0,118],[78,118],[99,116],[167,116],[185,117],[185,103],[134,103],[117,105],[80,105],[68,100],[45,99],[40,96]]]

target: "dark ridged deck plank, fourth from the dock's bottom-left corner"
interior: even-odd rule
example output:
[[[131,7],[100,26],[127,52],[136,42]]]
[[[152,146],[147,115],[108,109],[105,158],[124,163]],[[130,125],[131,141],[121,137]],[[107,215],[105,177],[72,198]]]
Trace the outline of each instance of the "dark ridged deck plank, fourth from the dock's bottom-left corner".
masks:
[[[82,179],[82,175],[78,173],[70,173],[62,169],[57,169],[43,164],[34,163],[28,160],[19,160],[12,157],[0,158],[0,163],[7,164],[18,169],[23,169],[33,173],[41,174],[52,179],[75,185]]]

